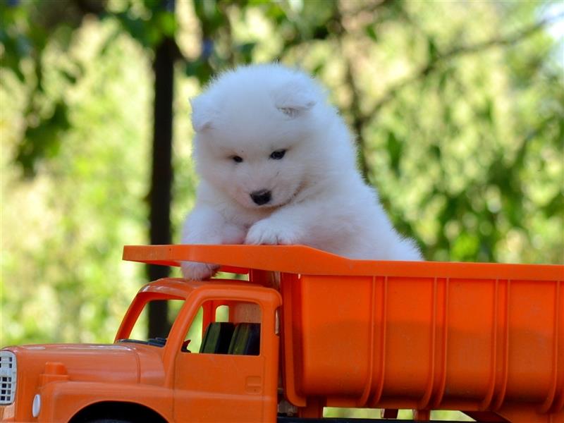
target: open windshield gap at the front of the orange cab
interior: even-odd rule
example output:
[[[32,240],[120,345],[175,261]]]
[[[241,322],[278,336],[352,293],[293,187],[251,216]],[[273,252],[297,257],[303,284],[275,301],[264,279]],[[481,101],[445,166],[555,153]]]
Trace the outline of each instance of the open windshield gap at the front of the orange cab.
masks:
[[[142,343],[145,345],[153,345],[155,347],[164,347],[166,345],[166,339],[168,338],[168,332],[171,330],[172,322],[176,320],[180,308],[184,305],[184,300],[153,300],[147,302],[145,307],[137,318],[135,326],[129,338],[118,339],[119,343]],[[155,309],[166,309],[167,314],[167,324],[161,328],[153,328],[157,330],[152,337],[149,338],[149,307],[154,307]]]

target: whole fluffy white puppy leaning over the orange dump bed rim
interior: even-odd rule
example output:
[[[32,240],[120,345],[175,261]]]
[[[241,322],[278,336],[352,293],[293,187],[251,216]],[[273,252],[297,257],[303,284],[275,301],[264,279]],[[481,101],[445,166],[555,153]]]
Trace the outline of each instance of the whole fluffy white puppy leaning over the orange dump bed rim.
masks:
[[[356,167],[321,86],[280,64],[236,68],[192,99],[200,176],[187,244],[303,244],[351,259],[420,260]],[[185,262],[185,278],[215,264]]]

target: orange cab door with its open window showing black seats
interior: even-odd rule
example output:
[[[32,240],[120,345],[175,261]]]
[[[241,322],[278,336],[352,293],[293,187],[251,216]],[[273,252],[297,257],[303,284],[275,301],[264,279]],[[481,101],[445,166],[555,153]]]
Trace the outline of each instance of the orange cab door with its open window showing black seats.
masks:
[[[209,300],[176,357],[176,422],[264,422],[262,310]]]

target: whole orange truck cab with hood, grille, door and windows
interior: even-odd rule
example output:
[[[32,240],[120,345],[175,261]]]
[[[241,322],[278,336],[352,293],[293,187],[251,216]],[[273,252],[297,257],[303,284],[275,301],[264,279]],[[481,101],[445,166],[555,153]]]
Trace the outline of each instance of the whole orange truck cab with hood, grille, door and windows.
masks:
[[[130,338],[152,301],[178,310],[168,336]],[[12,402],[1,421],[274,422],[280,305],[276,290],[243,281],[149,283],[112,345],[2,350],[20,376],[2,387]]]

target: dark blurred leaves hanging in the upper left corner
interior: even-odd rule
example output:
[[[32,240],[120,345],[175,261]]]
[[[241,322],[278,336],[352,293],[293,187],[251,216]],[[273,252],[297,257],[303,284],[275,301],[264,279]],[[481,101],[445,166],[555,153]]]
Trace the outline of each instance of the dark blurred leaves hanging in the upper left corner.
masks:
[[[68,51],[75,30],[82,25],[85,16],[92,13],[101,20],[115,20],[123,32],[147,49],[154,49],[164,37],[175,37],[178,23],[173,11],[166,7],[167,1],[143,0],[123,4],[126,5],[123,11],[106,9],[105,1],[90,0],[30,0],[25,4],[0,6],[0,20],[4,24],[0,27],[0,42],[4,47],[0,66],[9,69],[21,83],[32,86],[27,92],[25,116],[25,120],[30,123],[23,130],[15,157],[25,177],[35,175],[37,162],[56,155],[60,138],[71,128],[66,116],[71,106],[67,104],[66,97],[60,94],[49,97],[44,92],[46,50]],[[114,32],[107,42],[114,42],[117,36],[118,33]],[[108,44],[100,53],[104,54],[107,48]],[[65,55],[64,59],[73,60],[71,55]],[[27,75],[23,71],[26,64],[30,64],[33,69]],[[63,91],[75,85],[80,77],[77,73],[69,72],[62,63],[50,65],[54,68],[51,67],[49,71],[58,71],[65,78],[66,87]],[[38,103],[43,103],[39,107],[53,109],[52,116],[38,118]]]

